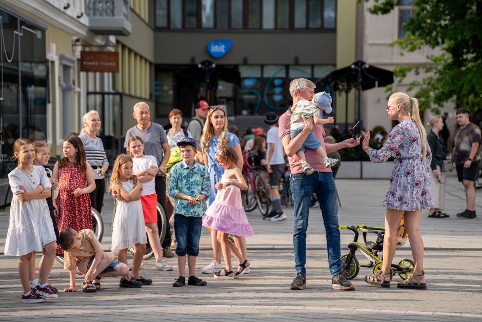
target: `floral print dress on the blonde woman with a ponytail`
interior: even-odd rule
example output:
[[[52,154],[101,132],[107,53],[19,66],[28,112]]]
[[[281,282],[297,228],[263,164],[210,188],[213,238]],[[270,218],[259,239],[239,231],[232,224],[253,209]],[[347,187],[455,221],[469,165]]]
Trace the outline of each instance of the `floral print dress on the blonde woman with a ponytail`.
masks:
[[[379,150],[369,150],[374,163],[394,157],[390,188],[381,205],[396,210],[416,211],[432,208],[430,193],[430,162],[432,153],[427,144],[425,159],[421,154],[418,127],[413,120],[396,125],[387,142]]]

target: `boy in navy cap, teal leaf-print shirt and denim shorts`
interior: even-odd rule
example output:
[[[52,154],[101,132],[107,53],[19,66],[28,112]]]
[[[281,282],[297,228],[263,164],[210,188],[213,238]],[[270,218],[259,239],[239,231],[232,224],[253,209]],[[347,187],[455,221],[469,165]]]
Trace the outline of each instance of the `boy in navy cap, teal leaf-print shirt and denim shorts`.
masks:
[[[177,142],[183,161],[172,166],[169,173],[169,195],[174,198],[174,231],[177,240],[177,265],[179,278],[172,285],[186,285],[185,268],[188,255],[188,285],[205,286],[207,282],[194,275],[199,254],[199,238],[205,214],[204,202],[209,197],[211,181],[203,164],[194,162],[196,142],[184,138]]]

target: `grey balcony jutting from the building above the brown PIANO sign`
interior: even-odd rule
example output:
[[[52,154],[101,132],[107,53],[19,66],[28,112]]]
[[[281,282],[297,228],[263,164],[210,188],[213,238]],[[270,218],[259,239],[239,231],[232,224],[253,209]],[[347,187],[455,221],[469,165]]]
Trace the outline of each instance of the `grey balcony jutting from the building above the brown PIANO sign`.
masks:
[[[97,34],[130,35],[129,0],[85,0],[89,29]]]

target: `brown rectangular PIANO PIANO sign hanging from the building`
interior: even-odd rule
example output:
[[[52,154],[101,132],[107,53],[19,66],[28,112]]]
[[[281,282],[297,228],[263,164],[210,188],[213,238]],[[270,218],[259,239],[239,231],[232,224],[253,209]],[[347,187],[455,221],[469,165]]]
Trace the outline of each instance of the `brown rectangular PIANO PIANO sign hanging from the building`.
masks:
[[[81,51],[81,71],[119,72],[116,51]]]

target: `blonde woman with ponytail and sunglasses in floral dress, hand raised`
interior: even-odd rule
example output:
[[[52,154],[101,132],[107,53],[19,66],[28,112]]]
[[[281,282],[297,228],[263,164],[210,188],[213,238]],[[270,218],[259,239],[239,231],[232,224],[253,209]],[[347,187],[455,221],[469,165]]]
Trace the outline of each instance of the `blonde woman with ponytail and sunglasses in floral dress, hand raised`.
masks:
[[[368,146],[370,131],[363,140],[363,149],[375,163],[394,157],[390,188],[383,206],[385,213],[385,237],[383,243],[383,266],[376,274],[367,275],[365,281],[371,285],[389,288],[393,277],[391,264],[397,245],[397,230],[402,218],[410,240],[415,261],[413,275],[398,282],[398,288],[426,289],[424,273],[424,241],[418,222],[421,209],[432,208],[430,194],[430,162],[432,153],[427,144],[427,134],[420,120],[418,101],[406,93],[390,96],[387,105],[390,120],[400,123],[390,132],[387,142],[379,150]]]

